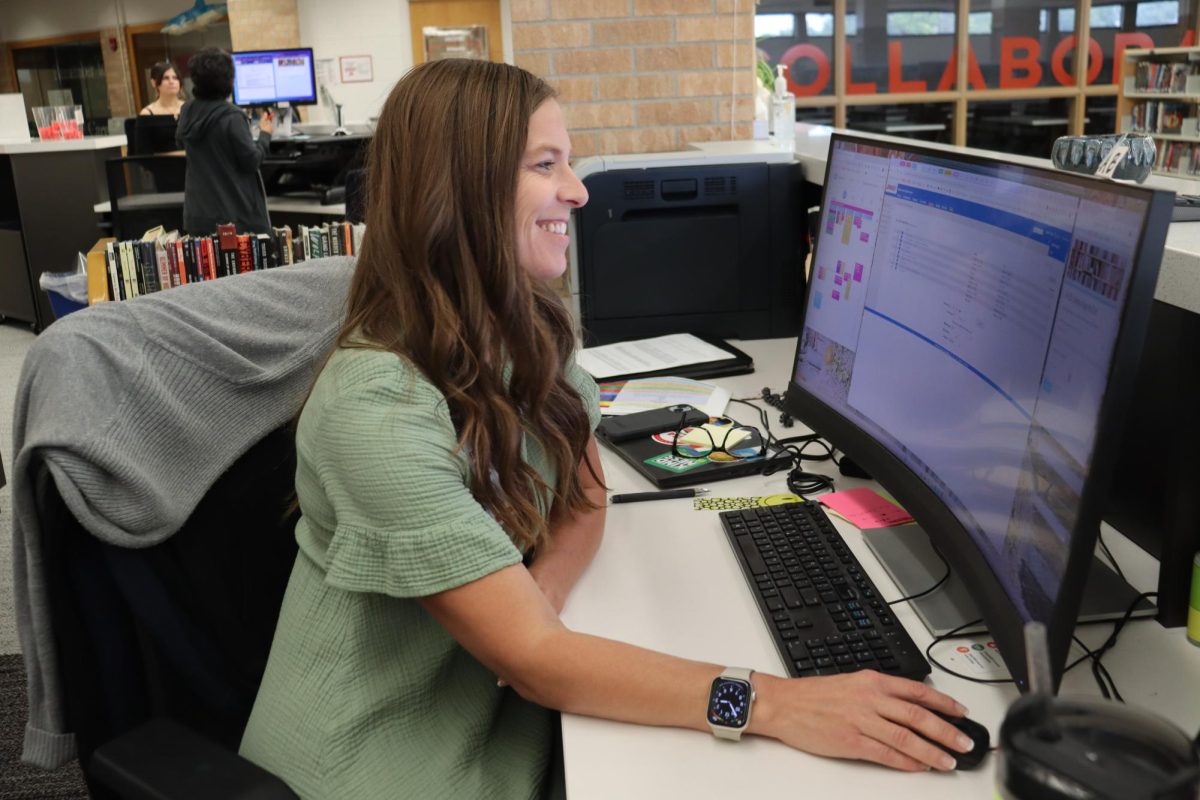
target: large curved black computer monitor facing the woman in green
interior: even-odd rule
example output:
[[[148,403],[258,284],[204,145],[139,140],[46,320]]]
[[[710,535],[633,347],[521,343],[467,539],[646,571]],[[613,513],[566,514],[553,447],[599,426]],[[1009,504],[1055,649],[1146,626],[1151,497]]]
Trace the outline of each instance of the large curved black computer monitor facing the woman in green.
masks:
[[[1027,621],[1062,674],[1171,206],[959,151],[830,142],[786,409],[913,515],[1022,688]]]

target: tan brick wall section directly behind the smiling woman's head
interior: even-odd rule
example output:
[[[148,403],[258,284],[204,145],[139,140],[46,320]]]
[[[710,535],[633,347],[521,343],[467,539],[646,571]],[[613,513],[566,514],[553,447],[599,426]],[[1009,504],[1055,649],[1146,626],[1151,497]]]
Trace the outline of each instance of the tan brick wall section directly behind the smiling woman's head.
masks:
[[[749,139],[755,0],[511,0],[517,65],[559,91],[574,156]]]

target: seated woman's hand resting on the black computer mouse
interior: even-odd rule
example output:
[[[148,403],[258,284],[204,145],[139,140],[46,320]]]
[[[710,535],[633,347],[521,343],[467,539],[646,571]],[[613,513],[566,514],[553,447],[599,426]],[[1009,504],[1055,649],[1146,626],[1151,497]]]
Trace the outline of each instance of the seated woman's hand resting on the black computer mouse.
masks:
[[[926,739],[967,752],[971,740],[932,710],[962,716],[954,698],[905,678],[865,670],[784,679],[755,674],[750,730],[817,756],[876,762],[899,770],[954,769]]]

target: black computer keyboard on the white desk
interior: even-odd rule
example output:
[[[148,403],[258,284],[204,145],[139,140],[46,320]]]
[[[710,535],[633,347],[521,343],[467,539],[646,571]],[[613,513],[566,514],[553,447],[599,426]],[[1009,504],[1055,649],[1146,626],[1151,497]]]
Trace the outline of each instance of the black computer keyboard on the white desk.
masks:
[[[725,511],[721,525],[790,675],[929,674],[929,662],[820,505]]]

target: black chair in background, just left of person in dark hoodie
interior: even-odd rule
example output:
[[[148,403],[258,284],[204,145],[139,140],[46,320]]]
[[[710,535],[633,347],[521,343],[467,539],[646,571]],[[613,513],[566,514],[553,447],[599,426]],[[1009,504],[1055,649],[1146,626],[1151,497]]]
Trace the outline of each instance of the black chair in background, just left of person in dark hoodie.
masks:
[[[184,156],[125,156],[104,163],[113,235],[118,240],[139,239],[162,225],[184,227]]]

